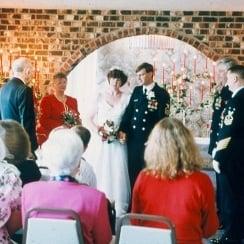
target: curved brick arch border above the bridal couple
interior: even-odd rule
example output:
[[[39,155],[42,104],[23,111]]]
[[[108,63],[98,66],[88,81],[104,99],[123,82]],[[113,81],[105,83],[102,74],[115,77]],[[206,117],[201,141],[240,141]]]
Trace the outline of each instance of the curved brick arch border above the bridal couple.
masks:
[[[141,28],[131,28],[131,29],[120,29],[108,34],[103,34],[86,44],[82,45],[80,49],[76,50],[70,58],[68,58],[61,69],[64,72],[69,73],[83,58],[95,51],[96,49],[104,46],[105,44],[115,41],[120,38],[137,36],[137,35],[164,35],[172,38],[176,38],[187,44],[195,47],[197,50],[205,54],[212,60],[217,60],[219,54],[213,49],[207,46],[202,41],[198,40],[192,35],[187,35],[184,32],[177,32],[174,30],[156,28],[156,27],[141,27]]]

